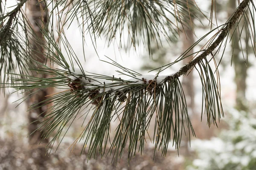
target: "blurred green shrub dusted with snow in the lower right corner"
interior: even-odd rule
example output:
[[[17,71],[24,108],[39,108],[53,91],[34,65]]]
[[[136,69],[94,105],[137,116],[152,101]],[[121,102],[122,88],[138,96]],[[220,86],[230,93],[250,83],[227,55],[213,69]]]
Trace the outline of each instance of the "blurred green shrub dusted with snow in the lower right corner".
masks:
[[[198,158],[187,170],[256,170],[256,115],[232,110],[225,121],[218,138],[191,141]]]

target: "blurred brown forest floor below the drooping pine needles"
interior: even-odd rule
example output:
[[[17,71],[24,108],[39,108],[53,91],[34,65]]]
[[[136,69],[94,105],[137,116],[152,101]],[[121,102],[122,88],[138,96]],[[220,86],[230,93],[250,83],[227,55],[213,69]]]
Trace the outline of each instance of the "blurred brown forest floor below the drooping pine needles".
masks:
[[[128,152],[122,155],[117,165],[111,164],[112,157],[91,159],[87,162],[86,154],[80,156],[81,146],[77,145],[73,152],[67,150],[68,144],[62,144],[57,153],[51,153],[44,162],[45,167],[36,164],[38,149],[19,141],[0,141],[0,170],[183,170],[183,156],[178,157],[177,151],[169,151],[166,157],[156,152],[153,161],[154,148],[145,147],[141,156],[136,156],[127,162]],[[31,156],[30,156],[31,155]],[[44,161],[44,158],[42,158]]]

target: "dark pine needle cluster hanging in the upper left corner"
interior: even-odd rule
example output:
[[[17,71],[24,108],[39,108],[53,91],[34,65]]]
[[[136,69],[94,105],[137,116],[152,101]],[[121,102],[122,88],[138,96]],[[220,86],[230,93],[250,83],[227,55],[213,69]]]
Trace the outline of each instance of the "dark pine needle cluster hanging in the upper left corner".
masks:
[[[1,11],[0,14],[1,82],[7,82],[9,79],[12,81],[13,73],[28,74],[26,68],[33,67],[33,63],[28,57],[30,53],[28,34],[30,33],[27,31],[26,19],[21,11],[24,3],[26,0],[21,0],[12,11],[8,13]],[[24,31],[24,34],[21,33],[21,30]]]

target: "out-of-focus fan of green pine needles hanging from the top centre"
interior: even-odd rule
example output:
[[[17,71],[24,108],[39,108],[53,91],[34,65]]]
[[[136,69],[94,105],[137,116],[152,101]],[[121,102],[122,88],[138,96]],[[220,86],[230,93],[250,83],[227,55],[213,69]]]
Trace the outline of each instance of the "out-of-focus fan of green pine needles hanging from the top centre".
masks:
[[[53,4],[53,0],[48,3]],[[152,41],[157,46],[163,39],[175,42],[181,31],[193,28],[191,17],[199,20],[201,14],[195,4],[183,0],[57,0],[53,10],[67,15],[67,21],[82,18],[78,21],[83,40],[84,34],[90,34],[95,49],[96,40],[105,37],[108,46],[117,43],[127,51],[143,44],[150,55]]]

